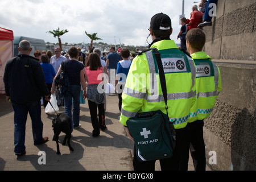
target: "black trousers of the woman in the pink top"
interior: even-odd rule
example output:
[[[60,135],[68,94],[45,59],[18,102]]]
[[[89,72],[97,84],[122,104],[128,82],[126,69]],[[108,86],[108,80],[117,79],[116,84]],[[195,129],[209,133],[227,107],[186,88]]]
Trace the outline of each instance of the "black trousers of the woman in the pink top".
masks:
[[[97,137],[100,134],[100,129],[106,129],[104,104],[96,104],[95,102],[88,101],[88,106],[90,110],[90,118],[92,120],[93,136]]]

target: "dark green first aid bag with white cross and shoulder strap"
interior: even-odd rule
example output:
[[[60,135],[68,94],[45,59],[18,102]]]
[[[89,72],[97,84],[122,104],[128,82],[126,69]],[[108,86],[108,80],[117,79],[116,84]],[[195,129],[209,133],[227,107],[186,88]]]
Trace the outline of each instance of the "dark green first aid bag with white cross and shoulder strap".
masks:
[[[160,53],[153,48],[158,64],[160,84],[164,102],[167,106],[166,79]],[[175,147],[175,129],[167,114],[160,110],[137,114],[127,120],[127,127],[134,138],[135,150],[139,161],[171,158]]]

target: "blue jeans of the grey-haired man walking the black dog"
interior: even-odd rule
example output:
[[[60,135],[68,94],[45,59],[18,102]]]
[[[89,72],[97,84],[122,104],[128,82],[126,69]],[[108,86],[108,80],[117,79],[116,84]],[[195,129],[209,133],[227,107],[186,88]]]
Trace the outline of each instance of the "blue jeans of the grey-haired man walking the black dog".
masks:
[[[41,103],[40,100],[30,104],[14,104],[14,152],[21,154],[26,149],[25,134],[27,114],[30,114],[32,122],[32,133],[34,144],[43,142],[43,122],[41,120]]]

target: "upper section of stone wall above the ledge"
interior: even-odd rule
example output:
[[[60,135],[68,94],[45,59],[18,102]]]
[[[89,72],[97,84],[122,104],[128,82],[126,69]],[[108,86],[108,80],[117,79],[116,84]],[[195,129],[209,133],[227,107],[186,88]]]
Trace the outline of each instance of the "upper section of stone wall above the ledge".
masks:
[[[205,50],[213,59],[256,60],[256,1],[219,0]]]

